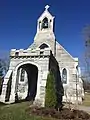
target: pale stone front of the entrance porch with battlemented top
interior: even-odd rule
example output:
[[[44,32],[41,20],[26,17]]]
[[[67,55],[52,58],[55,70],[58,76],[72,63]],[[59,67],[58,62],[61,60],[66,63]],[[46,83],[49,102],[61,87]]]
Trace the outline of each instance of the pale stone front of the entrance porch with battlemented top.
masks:
[[[44,50],[40,50],[40,49],[36,49],[36,50],[35,49],[34,50],[13,49],[11,50],[11,53],[10,53],[11,60],[10,60],[10,66],[9,66],[8,73],[9,71],[11,71],[10,74],[12,73],[12,85],[11,85],[10,99],[8,101],[9,103],[15,102],[15,93],[17,92],[15,91],[15,88],[17,84],[16,78],[17,78],[18,68],[24,64],[32,64],[32,65],[37,66],[38,68],[38,80],[37,80],[38,82],[37,82],[37,93],[35,97],[35,102],[39,100],[42,106],[44,106],[45,86],[46,86],[47,74],[49,70],[49,56],[50,56],[50,50],[48,48]],[[7,83],[9,80],[9,76],[10,75],[7,74],[7,76],[4,79],[4,84],[2,88],[3,93],[0,96],[0,101],[2,102],[5,102],[5,96],[6,96]],[[24,98],[23,96],[25,96],[26,93],[25,91],[24,92],[21,91],[21,88],[23,88],[24,84],[18,83],[18,85],[20,89],[18,92],[18,95]]]

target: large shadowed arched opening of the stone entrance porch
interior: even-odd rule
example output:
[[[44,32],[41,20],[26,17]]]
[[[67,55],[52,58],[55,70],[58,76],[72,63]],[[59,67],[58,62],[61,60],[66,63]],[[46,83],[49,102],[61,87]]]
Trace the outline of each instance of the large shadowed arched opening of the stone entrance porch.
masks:
[[[37,92],[37,79],[38,79],[38,68],[33,64],[22,64],[17,69],[16,76],[16,95],[19,97],[20,94],[25,97],[26,100],[34,100]],[[25,87],[27,88],[27,95],[25,96]],[[20,88],[22,91],[20,91]]]

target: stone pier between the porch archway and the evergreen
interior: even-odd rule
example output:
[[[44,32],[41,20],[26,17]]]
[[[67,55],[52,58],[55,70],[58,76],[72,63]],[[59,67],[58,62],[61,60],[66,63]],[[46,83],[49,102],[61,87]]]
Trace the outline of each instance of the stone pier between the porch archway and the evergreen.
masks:
[[[42,59],[40,63],[41,69],[38,70],[38,81],[37,81],[37,94],[35,97],[34,104],[44,107],[45,106],[45,87],[48,74],[49,59]]]

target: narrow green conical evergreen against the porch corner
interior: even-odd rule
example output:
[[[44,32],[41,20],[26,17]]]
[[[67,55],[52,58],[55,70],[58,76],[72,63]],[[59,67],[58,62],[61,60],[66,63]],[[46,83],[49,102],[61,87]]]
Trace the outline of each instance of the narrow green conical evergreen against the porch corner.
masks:
[[[55,108],[56,103],[55,78],[53,73],[50,71],[46,83],[45,107]]]

